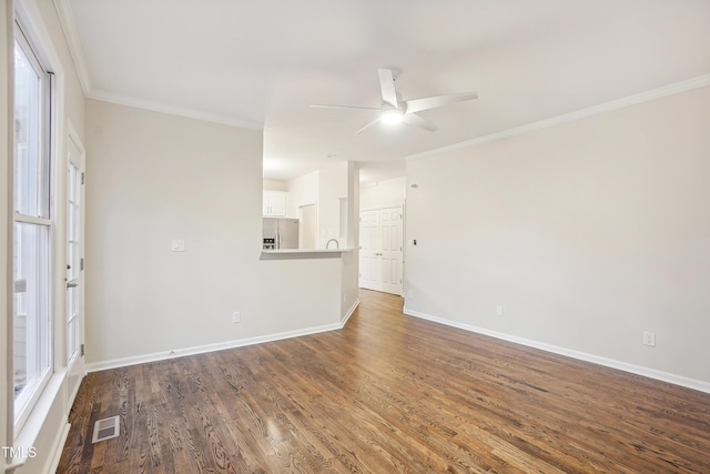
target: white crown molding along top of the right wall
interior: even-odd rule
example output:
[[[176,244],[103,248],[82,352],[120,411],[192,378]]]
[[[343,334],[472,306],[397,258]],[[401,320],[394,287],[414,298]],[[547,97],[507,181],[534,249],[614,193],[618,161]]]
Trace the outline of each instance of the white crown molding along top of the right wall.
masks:
[[[710,74],[699,75],[697,78],[689,79],[687,81],[681,81],[674,84],[665,85],[662,88],[629,95],[627,98],[613,100],[611,102],[601,103],[599,105],[580,109],[571,113],[554,117],[551,119],[528,123],[527,125],[515,127],[513,129],[504,130],[501,132],[490,133],[488,135],[478,137],[471,140],[466,140],[459,143],[447,145],[447,147],[437,148],[437,149],[425,151],[422,153],[410,154],[408,157],[405,157],[405,160],[419,160],[422,158],[433,157],[436,154],[442,154],[442,153],[446,153],[454,150],[460,150],[463,148],[476,147],[481,143],[487,143],[496,140],[507,139],[510,137],[521,135],[524,133],[529,133],[537,130],[560,125],[562,123],[572,122],[575,120],[587,119],[589,117],[599,115],[600,113],[611,112],[613,110],[622,109],[625,107],[636,105],[642,102],[648,102],[651,100],[661,99],[668,95],[673,95],[673,94],[690,91],[693,89],[703,88],[706,85],[710,85]]]

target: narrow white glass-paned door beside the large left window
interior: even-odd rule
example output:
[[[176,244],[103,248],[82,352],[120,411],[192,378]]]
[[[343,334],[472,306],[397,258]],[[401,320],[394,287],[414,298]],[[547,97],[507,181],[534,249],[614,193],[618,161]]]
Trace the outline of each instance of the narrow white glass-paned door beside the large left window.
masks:
[[[83,374],[83,151],[69,135],[67,161],[67,363],[70,382]],[[71,377],[74,375],[74,377]]]

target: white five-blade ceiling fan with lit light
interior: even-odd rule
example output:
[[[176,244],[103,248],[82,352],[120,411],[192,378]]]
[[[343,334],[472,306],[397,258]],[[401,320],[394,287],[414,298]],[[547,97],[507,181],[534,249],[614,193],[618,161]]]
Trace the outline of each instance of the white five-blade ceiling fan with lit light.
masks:
[[[417,115],[416,112],[423,110],[436,109],[438,107],[450,105],[457,102],[464,102],[467,100],[477,99],[476,92],[462,92],[448,95],[427,97],[423,99],[414,99],[407,101],[397,100],[397,90],[395,89],[395,78],[389,69],[378,69],[379,74],[379,89],[382,92],[382,105],[379,109],[372,107],[351,107],[351,105],[311,105],[325,109],[351,109],[351,110],[374,110],[379,112],[372,122],[357,130],[355,133],[359,133],[367,130],[377,122],[383,123],[399,123],[405,122],[410,125],[420,127],[425,130],[434,132],[437,127],[425,120],[423,117]]]

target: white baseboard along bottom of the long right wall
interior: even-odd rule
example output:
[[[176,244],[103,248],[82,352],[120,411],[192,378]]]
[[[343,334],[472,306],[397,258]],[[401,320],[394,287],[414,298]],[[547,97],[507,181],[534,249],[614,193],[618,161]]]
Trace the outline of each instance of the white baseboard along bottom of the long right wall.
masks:
[[[404,306],[404,314],[408,316],[415,316],[423,320],[432,321],[435,323],[444,324],[452,327],[470,331],[477,334],[488,335],[503,341],[513,342],[516,344],[525,345],[528,347],[539,349],[541,351],[551,352],[554,354],[565,355],[567,357],[577,359],[579,361],[591,362],[592,364],[604,365],[606,367],[617,369],[623,372],[629,372],[637,375],[642,375],[649,379],[659,380],[662,382],[672,383],[676,385],[684,386],[688,389],[698,390],[700,392],[710,393],[710,383],[684,377],[682,375],[676,375],[663,371],[657,371],[655,369],[643,367],[640,365],[629,364],[627,362],[616,361],[613,359],[601,357],[599,355],[587,354],[586,352],[575,351],[571,349],[559,347],[544,342],[532,341],[525,337],[518,337],[510,334],[500,333],[497,331],[490,331],[484,327],[474,326],[470,324],[460,323],[458,321],[452,321],[443,317],[433,316],[430,314],[422,313],[419,311],[409,310]]]

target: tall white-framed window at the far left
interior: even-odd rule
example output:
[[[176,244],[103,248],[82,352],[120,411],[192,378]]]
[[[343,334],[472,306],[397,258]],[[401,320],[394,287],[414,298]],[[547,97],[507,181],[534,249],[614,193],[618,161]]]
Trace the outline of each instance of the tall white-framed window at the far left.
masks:
[[[18,27],[14,41],[14,424],[52,373],[51,74]]]

